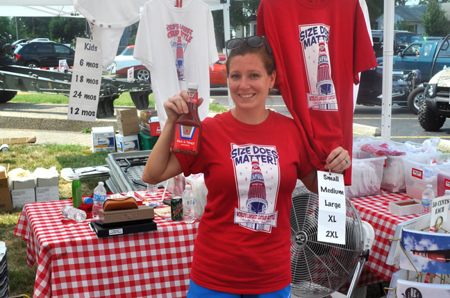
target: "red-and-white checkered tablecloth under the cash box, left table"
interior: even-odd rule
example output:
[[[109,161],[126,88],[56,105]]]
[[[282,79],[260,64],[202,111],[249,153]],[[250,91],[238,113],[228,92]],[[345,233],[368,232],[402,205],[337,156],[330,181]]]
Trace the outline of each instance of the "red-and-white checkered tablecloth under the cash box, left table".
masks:
[[[90,220],[63,218],[70,204],[26,204],[17,222],[28,265],[38,264],[33,297],[185,297],[198,221],[156,216],[157,231],[97,238]]]

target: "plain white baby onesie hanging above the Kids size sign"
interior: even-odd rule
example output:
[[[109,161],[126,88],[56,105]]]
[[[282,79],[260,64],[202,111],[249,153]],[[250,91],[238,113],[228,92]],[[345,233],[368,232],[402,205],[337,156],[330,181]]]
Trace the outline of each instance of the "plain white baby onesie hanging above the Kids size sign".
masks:
[[[127,26],[139,21],[140,0],[74,0],[92,27],[92,39],[99,42],[103,69],[113,63],[119,42]]]

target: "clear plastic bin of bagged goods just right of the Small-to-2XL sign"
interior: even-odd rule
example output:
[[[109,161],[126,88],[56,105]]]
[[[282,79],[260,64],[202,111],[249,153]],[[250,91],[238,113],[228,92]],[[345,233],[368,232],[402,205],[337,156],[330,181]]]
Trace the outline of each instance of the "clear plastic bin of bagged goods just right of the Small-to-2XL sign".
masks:
[[[351,186],[345,186],[349,198],[379,195],[386,157],[370,157],[367,152],[353,151]]]

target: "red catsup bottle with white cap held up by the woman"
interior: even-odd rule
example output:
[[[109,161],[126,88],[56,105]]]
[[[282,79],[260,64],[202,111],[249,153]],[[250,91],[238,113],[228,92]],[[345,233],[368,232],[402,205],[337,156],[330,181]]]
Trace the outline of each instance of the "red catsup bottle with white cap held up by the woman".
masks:
[[[199,84],[188,83],[189,113],[182,114],[175,123],[172,152],[196,155],[199,152],[201,121],[197,106],[199,104]]]

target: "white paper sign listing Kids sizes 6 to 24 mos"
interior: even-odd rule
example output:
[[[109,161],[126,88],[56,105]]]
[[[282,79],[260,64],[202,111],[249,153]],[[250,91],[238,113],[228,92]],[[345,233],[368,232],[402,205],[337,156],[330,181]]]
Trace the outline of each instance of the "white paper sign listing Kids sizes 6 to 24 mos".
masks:
[[[95,121],[103,71],[101,61],[99,44],[86,38],[76,39],[67,119]]]

